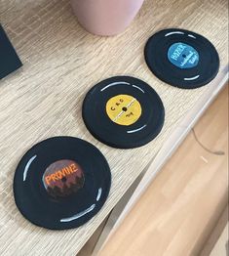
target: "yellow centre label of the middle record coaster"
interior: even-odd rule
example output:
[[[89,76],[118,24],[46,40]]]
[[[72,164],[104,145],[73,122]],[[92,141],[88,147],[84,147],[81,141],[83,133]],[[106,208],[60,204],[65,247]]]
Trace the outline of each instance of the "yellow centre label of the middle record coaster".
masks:
[[[117,95],[106,103],[106,113],[109,118],[120,125],[132,125],[141,116],[139,102],[130,95]]]

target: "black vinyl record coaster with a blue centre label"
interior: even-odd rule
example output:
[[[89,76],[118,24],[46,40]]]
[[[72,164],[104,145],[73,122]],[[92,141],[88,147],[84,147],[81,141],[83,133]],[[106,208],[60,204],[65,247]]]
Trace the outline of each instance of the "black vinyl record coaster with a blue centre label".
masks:
[[[154,34],[145,46],[151,71],[172,86],[194,89],[216,76],[219,57],[210,41],[183,29],[165,29]]]

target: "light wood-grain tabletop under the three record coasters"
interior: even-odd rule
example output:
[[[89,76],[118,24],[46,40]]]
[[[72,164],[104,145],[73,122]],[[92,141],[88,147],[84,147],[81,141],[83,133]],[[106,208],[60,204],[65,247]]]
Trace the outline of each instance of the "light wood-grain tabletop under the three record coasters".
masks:
[[[67,0],[0,0],[0,21],[24,64],[0,81],[0,254],[75,255],[162,147],[177,121],[210,88],[188,91],[159,81],[144,63],[147,38],[166,27],[199,32],[219,52],[221,71],[228,60],[227,1],[146,0],[129,29],[110,38],[86,32]],[[101,79],[119,74],[148,82],[166,108],[161,135],[140,149],[111,149],[98,143],[81,117],[87,91]],[[12,191],[23,153],[57,135],[95,144],[107,158],[113,177],[109,198],[95,218],[79,229],[61,232],[37,228],[23,219]]]

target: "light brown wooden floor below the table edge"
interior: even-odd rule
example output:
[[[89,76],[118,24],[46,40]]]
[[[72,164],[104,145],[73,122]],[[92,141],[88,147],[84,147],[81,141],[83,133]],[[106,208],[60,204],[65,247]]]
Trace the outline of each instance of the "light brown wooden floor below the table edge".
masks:
[[[228,201],[228,86],[99,256],[199,255]],[[224,155],[220,155],[220,151]]]

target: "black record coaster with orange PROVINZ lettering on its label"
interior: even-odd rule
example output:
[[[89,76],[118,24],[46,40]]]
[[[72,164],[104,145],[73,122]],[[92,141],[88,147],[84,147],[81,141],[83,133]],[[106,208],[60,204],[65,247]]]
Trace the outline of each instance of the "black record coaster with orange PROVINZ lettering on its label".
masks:
[[[109,165],[98,149],[77,138],[54,137],[24,154],[15,173],[14,193],[27,220],[65,230],[95,216],[110,184]]]

